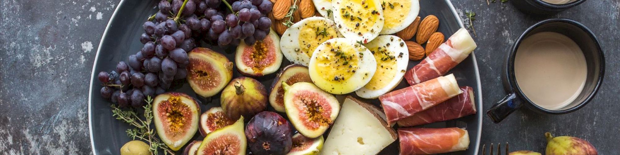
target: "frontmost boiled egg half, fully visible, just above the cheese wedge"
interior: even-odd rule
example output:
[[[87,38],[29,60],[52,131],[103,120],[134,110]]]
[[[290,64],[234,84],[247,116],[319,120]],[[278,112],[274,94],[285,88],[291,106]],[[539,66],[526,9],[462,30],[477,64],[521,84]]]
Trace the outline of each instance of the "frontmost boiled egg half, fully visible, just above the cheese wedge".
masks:
[[[355,40],[333,38],[316,48],[308,71],[317,87],[331,94],[347,94],[365,86],[376,71],[373,53]]]

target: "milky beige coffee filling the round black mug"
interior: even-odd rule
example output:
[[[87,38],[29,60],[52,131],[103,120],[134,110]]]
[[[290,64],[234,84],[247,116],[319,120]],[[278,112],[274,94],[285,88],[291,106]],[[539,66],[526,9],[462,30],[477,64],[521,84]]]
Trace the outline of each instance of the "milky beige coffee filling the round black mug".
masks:
[[[556,32],[525,38],[516,52],[516,83],[534,104],[548,110],[569,105],[582,92],[587,64],[581,48]]]

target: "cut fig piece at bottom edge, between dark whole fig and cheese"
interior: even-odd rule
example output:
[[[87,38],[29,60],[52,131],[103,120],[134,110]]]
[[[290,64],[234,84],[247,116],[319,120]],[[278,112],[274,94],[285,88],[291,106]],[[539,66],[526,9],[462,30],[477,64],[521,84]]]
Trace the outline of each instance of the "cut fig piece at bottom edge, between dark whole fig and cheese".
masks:
[[[317,155],[323,148],[323,136],[308,138],[299,133],[293,135],[293,149],[287,155]]]

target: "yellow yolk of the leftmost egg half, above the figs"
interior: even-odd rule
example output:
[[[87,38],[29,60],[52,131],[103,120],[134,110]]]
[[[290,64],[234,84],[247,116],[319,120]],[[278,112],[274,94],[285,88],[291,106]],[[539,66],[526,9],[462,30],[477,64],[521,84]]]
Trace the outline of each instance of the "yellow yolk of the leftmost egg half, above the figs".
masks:
[[[328,29],[331,25],[327,25],[324,21],[306,22],[301,30],[299,30],[299,50],[308,58],[312,57],[312,53],[316,50],[316,47],[329,40],[337,37],[335,29]]]

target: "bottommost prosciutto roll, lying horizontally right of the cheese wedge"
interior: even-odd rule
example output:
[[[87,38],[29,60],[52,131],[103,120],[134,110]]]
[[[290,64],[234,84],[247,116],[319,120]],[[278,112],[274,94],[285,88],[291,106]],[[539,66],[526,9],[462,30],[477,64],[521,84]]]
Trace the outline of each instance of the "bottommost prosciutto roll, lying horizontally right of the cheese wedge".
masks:
[[[467,130],[461,128],[399,128],[403,154],[438,154],[469,148]]]

